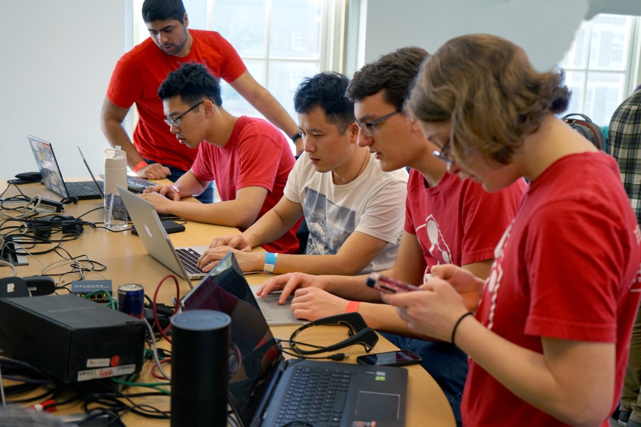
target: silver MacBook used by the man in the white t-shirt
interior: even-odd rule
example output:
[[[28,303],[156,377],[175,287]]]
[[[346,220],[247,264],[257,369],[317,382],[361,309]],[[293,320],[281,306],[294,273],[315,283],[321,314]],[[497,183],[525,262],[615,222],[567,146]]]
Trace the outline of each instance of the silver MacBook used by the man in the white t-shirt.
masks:
[[[190,279],[204,277],[206,273],[196,267],[196,261],[209,246],[174,249],[154,205],[121,186],[117,187],[147,253],[181,278],[187,279],[189,287],[192,287]]]

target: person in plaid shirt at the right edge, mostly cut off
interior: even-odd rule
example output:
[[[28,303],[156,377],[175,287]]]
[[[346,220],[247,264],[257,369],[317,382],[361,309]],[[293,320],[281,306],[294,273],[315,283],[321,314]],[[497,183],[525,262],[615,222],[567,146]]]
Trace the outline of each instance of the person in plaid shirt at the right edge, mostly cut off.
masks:
[[[615,110],[608,128],[608,151],[619,162],[621,180],[641,224],[641,85]],[[619,406],[619,425],[641,426],[641,316],[632,330],[628,369]]]

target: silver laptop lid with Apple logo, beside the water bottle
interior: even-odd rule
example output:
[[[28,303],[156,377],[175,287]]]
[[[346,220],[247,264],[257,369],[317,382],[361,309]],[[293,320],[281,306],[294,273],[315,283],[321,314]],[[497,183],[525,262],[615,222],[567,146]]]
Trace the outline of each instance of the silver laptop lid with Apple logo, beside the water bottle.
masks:
[[[176,250],[171,244],[162,222],[160,222],[160,217],[158,217],[154,205],[122,188],[120,185],[117,185],[117,187],[147,253],[181,278],[186,279],[190,288],[193,287],[185,267],[179,262]]]

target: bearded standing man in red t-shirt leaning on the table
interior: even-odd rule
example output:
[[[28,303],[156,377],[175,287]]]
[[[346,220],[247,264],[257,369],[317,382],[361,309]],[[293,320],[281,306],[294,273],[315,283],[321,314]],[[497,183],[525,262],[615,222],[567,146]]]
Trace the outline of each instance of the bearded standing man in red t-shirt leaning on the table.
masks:
[[[101,113],[104,136],[127,153],[128,166],[140,178],[178,180],[194,163],[195,150],[177,144],[163,122],[158,86],[169,72],[185,62],[204,63],[217,78],[227,81],[251,105],[287,133],[303,150],[298,127],[274,97],[249,74],[235,49],[219,33],[187,29],[182,0],[146,0],[144,19],[151,37],[124,54],[116,64]],[[140,117],[133,144],[122,126],[133,103]],[[213,189],[199,197],[213,201]]]

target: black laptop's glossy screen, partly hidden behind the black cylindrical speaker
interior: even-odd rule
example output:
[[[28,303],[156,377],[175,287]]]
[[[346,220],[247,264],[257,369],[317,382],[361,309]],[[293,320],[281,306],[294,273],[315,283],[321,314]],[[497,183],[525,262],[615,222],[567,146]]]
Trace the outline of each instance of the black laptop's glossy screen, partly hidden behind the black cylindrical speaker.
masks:
[[[249,425],[271,389],[281,350],[229,252],[181,301],[185,310],[217,310],[231,317],[229,399]]]

